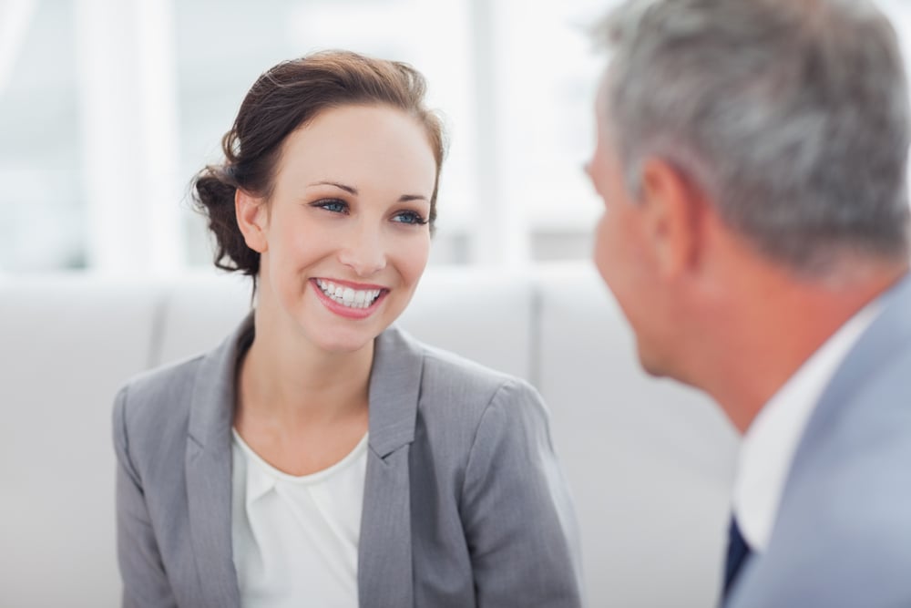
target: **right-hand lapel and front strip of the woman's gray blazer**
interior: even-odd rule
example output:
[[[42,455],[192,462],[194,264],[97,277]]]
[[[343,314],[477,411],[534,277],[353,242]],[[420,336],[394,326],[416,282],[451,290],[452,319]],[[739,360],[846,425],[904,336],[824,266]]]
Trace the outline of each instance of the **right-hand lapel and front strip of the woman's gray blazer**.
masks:
[[[414,604],[408,452],[415,439],[423,360],[395,328],[376,339],[358,547],[361,608]]]

